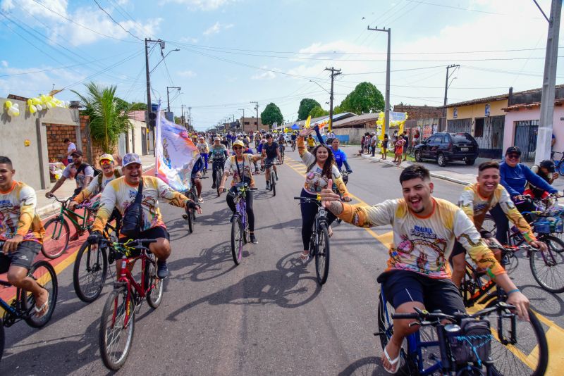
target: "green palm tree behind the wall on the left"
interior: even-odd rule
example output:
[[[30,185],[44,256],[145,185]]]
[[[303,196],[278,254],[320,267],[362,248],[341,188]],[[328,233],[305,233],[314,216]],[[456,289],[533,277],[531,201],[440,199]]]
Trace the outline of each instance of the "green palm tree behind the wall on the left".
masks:
[[[129,104],[116,96],[117,87],[100,87],[95,82],[85,84],[87,95],[79,96],[85,115],[90,117],[90,137],[104,153],[114,153],[119,135],[131,127],[128,112]]]

